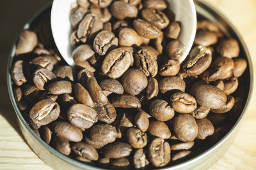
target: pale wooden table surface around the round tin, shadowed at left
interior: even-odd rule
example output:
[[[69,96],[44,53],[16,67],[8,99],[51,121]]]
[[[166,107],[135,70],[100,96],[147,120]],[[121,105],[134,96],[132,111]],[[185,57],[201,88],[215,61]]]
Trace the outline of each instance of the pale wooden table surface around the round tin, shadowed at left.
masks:
[[[20,25],[19,27],[12,27],[13,22],[17,21],[20,24],[24,23],[24,21],[28,20],[29,16],[32,15],[39,6],[42,6],[42,4],[47,1],[48,0],[40,1],[40,3],[38,3],[39,1],[29,0],[1,1],[1,3],[3,3],[3,6],[1,4],[3,8],[0,7],[0,21],[1,23],[7,23],[7,27],[10,26],[10,29],[9,33],[3,35],[4,38],[1,39],[0,43],[0,57],[2,60],[0,64],[0,78],[1,80],[4,80],[0,83],[0,169],[51,169],[51,167],[47,166],[35,155],[22,138],[15,120],[15,112],[10,104],[5,82],[5,66],[8,50],[12,44],[12,38],[14,38],[13,34],[17,34],[16,32],[21,28]],[[207,2],[211,3],[224,13],[241,32],[248,45],[250,54],[252,55],[253,71],[256,73],[256,1],[207,0]],[[31,6],[36,6],[36,8],[33,8],[30,12],[22,10],[22,8],[26,7],[26,3],[32,3]],[[13,11],[17,10],[26,13],[26,17],[19,18],[19,13],[16,12],[13,14],[12,11],[9,11],[11,9]],[[6,13],[3,13],[3,10],[6,10]],[[4,17],[6,17],[6,15],[14,21],[10,22],[10,20],[5,20]],[[3,25],[1,24],[1,26]],[[2,27],[0,32],[4,31],[4,29],[6,28]],[[11,38],[9,38],[8,35]],[[228,152],[225,153],[225,155],[223,155],[223,157],[221,157],[210,169],[256,169],[255,95],[256,90],[253,92],[251,104],[243,118],[236,140],[230,146]]]

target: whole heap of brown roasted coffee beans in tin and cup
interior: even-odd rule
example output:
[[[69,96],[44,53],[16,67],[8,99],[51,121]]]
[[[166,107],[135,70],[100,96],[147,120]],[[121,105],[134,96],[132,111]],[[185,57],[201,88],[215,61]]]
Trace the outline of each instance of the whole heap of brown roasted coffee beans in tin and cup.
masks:
[[[200,20],[181,64],[186,28],[170,16],[164,0],[77,0],[74,67],[40,41],[42,31],[23,31],[10,73],[33,131],[68,157],[110,169],[168,166],[196,143],[206,150],[207,139],[218,141],[230,110],[241,113],[232,95],[247,62],[236,39]]]

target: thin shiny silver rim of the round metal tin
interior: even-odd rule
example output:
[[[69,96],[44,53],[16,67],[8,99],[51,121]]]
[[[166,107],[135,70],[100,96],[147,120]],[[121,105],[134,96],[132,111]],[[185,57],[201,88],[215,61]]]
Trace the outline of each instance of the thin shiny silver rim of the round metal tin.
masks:
[[[225,20],[225,22],[227,22],[228,26],[236,34],[237,38],[239,39],[239,41],[241,43],[241,47],[243,47],[244,53],[246,55],[246,59],[248,60],[248,69],[249,69],[249,74],[250,74],[250,87],[248,89],[248,96],[247,96],[247,99],[246,99],[246,103],[244,104],[243,111],[241,111],[240,117],[237,119],[236,123],[232,126],[232,128],[227,132],[227,134],[225,134],[225,136],[223,136],[223,138],[220,139],[220,141],[218,141],[215,145],[211,146],[208,150],[205,150],[204,152],[200,153],[199,155],[196,155],[195,157],[193,157],[193,158],[191,158],[189,160],[186,160],[184,162],[181,162],[179,164],[175,164],[175,165],[172,165],[172,166],[163,167],[163,168],[160,168],[160,169],[179,169],[179,168],[188,166],[189,164],[193,164],[194,162],[202,159],[202,157],[205,157],[205,155],[208,155],[209,153],[213,152],[216,148],[218,148],[220,145],[222,145],[228,139],[229,136],[231,136],[234,133],[234,129],[237,129],[237,127],[241,123],[241,120],[244,117],[244,115],[246,113],[246,110],[248,109],[248,106],[250,105],[250,101],[252,99],[253,83],[254,83],[252,59],[251,59],[250,53],[248,51],[248,48],[246,46],[246,43],[244,42],[243,37],[241,36],[239,31],[237,31],[236,27],[234,27],[234,25],[230,22],[230,20],[228,20],[227,17],[225,17],[225,15],[223,15],[214,6],[212,6],[211,4],[206,3],[205,1],[202,1],[202,0],[195,0],[195,4],[196,4],[196,6],[200,5],[203,8],[206,8],[207,10],[214,11],[214,13],[216,13],[219,16],[221,16],[221,18],[223,18],[223,20]],[[71,159],[70,157],[67,157],[66,155],[63,155],[62,153],[60,153],[57,150],[55,150],[54,148],[52,148],[52,146],[47,145],[44,140],[42,140],[41,138],[39,138],[35,134],[35,132],[31,129],[31,127],[29,127],[29,124],[26,122],[24,117],[22,117],[22,114],[20,113],[19,107],[17,106],[17,103],[16,103],[14,95],[13,95],[13,89],[12,89],[12,84],[13,83],[12,83],[12,78],[11,78],[10,70],[12,69],[12,65],[11,64],[12,64],[14,53],[15,53],[15,48],[16,48],[15,44],[17,42],[17,39],[19,38],[20,33],[24,29],[28,29],[29,28],[29,24],[31,22],[33,22],[33,20],[35,20],[35,18],[38,17],[43,11],[47,10],[48,8],[50,8],[51,5],[52,5],[52,2],[50,1],[49,3],[45,4],[45,6],[40,8],[40,10],[36,11],[35,15],[33,15],[33,17],[31,17],[28,20],[28,22],[24,25],[24,27],[22,27],[22,29],[20,30],[19,34],[17,34],[17,37],[13,41],[13,45],[12,45],[12,48],[11,48],[12,50],[10,52],[10,55],[8,55],[8,62],[7,62],[7,68],[6,68],[6,80],[7,80],[7,86],[8,86],[8,93],[9,93],[9,96],[10,96],[13,108],[15,110],[15,113],[16,113],[17,117],[19,118],[19,120],[26,127],[26,129],[32,134],[32,136],[37,141],[40,142],[40,145],[42,145],[44,148],[46,148],[51,154],[56,155],[56,157],[58,157],[59,159],[62,159],[65,162],[68,162],[69,164],[72,164],[73,166],[76,166],[76,167],[79,167],[79,168],[82,168],[82,169],[86,169],[86,168],[87,169],[88,168],[90,168],[90,169],[102,169],[100,167],[91,166],[89,164],[84,164],[82,162],[79,162],[79,161],[77,161],[75,159]],[[45,162],[45,163],[47,164],[47,162]]]

